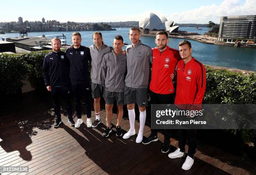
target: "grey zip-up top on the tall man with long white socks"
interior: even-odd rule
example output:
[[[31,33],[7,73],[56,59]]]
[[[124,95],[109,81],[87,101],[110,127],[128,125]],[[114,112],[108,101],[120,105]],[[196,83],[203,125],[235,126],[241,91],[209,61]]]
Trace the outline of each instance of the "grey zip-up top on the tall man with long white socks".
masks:
[[[148,88],[149,63],[152,63],[152,49],[139,41],[135,47],[126,48],[127,75],[125,86],[131,88]]]

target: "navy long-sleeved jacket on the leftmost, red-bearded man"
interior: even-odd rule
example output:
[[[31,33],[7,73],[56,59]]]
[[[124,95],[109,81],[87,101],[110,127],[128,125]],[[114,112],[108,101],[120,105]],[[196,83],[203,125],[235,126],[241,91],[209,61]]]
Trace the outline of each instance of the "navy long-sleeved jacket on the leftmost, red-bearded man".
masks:
[[[70,84],[69,60],[66,53],[51,51],[44,57],[43,77],[46,86],[65,86]]]

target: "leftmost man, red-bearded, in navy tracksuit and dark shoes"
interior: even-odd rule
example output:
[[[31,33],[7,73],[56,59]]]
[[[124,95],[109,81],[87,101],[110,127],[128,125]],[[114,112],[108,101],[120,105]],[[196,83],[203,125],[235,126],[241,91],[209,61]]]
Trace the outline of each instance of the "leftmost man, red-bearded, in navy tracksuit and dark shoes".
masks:
[[[74,123],[70,101],[69,60],[66,53],[60,51],[61,41],[59,38],[51,40],[53,51],[44,57],[43,77],[46,88],[51,91],[54,101],[56,121],[54,127],[61,124],[60,98],[65,102],[69,123]]]

